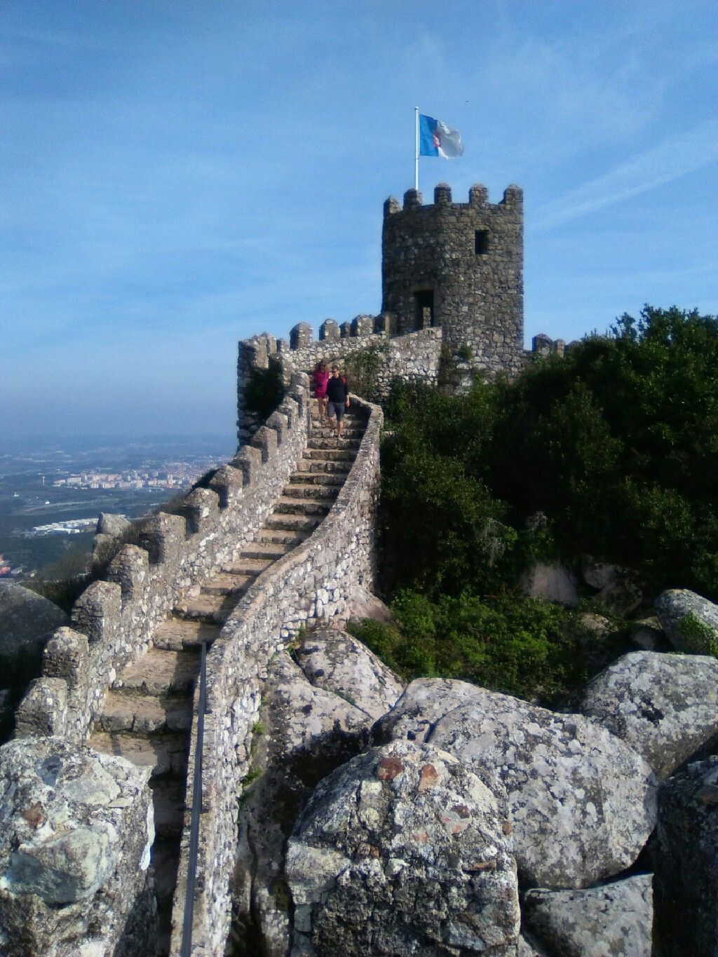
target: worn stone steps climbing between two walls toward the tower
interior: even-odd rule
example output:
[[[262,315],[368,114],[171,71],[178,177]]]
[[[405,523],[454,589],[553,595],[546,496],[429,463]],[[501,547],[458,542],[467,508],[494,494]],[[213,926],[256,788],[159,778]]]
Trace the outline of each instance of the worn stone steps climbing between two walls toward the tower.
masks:
[[[151,768],[158,954],[167,954],[169,947],[201,645],[212,644],[258,574],[300,545],[322,522],[347,478],[364,433],[363,422],[348,414],[344,436],[337,439],[316,415],[313,402],[309,440],[298,469],[254,541],[198,594],[185,595],[176,603],[156,629],[146,655],[113,682],[88,741],[98,751],[120,754]]]

